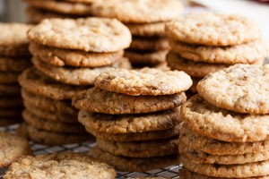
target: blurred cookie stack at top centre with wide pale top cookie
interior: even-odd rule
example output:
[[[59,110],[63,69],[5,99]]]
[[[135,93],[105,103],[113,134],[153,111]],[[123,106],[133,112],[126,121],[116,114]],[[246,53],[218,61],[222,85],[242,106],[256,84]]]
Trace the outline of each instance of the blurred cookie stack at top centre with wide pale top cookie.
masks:
[[[131,30],[133,41],[125,56],[135,67],[158,67],[167,70],[168,39],[164,24],[183,13],[177,0],[99,0],[92,4],[95,16],[117,18]]]

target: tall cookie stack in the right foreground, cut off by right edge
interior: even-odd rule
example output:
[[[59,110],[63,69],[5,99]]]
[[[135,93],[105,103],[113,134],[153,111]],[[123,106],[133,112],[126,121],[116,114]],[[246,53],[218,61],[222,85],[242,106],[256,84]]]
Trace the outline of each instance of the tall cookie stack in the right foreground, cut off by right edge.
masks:
[[[206,76],[182,107],[180,178],[269,177],[269,65]]]

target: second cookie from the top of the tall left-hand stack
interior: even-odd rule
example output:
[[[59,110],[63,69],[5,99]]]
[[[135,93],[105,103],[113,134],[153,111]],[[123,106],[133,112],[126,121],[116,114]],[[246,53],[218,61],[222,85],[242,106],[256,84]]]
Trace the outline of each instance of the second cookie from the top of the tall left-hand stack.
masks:
[[[82,50],[66,50],[30,43],[30,53],[53,66],[100,67],[115,64],[123,56],[123,50],[110,53],[90,53]]]

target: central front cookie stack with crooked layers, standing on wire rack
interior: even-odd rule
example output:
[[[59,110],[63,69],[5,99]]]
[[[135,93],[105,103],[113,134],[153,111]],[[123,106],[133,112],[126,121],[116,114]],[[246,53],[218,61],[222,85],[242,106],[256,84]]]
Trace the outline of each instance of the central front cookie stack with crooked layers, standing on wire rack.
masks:
[[[178,162],[180,105],[192,81],[185,72],[143,68],[102,72],[73,98],[79,121],[97,138],[90,151],[119,171],[148,171]]]

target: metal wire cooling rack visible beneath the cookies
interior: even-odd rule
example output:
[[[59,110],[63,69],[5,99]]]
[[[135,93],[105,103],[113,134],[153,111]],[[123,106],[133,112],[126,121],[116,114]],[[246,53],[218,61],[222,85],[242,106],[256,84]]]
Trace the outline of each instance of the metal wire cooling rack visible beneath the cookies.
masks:
[[[9,127],[0,127],[0,131],[14,132],[18,125],[11,125]],[[78,144],[64,145],[64,146],[46,146],[40,145],[34,142],[30,142],[31,149],[34,155],[42,155],[53,152],[63,152],[63,151],[74,151],[74,152],[88,152],[91,148],[95,146],[94,142],[83,142]],[[2,179],[4,172],[7,168],[0,169],[0,179]],[[148,177],[156,176],[160,178],[171,178],[176,179],[178,176],[178,169],[180,166],[168,166],[161,169],[155,169],[148,172],[117,172],[117,178],[137,178],[137,177]]]

